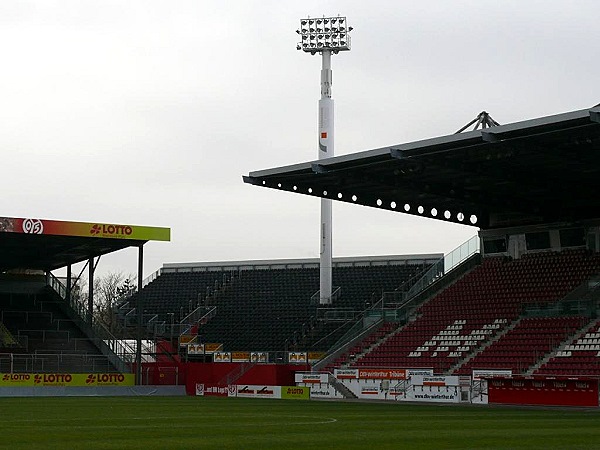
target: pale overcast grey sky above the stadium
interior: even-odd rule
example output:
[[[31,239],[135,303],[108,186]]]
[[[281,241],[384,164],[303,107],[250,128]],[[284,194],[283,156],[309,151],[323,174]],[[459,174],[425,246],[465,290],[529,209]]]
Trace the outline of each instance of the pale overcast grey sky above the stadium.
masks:
[[[600,102],[590,1],[0,2],[0,216],[165,226],[165,262],[318,256],[319,199],[245,185],[317,158],[320,58],[345,15],[337,155]],[[473,227],[334,202],[336,256],[448,252]],[[100,269],[134,271],[134,252]]]

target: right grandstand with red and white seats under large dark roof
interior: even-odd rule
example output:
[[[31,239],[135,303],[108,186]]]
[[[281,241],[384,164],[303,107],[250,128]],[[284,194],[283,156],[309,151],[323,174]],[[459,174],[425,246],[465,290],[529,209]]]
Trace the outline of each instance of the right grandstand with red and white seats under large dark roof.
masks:
[[[479,227],[317,368],[600,375],[600,107],[267,169],[248,184]],[[372,312],[373,316],[377,312]]]

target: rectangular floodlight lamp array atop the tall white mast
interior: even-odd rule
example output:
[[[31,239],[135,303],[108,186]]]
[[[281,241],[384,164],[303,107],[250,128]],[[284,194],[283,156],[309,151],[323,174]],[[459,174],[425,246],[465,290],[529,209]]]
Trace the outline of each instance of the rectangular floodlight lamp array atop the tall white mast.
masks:
[[[350,50],[350,31],[345,17],[319,17],[300,20],[296,33],[301,41],[296,48],[311,54],[330,50],[337,53]]]

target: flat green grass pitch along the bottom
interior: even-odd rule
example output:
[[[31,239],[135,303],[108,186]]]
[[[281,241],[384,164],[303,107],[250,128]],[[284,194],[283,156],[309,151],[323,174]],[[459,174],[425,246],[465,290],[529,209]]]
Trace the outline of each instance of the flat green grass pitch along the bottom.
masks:
[[[0,398],[9,449],[592,449],[600,411],[209,397]]]

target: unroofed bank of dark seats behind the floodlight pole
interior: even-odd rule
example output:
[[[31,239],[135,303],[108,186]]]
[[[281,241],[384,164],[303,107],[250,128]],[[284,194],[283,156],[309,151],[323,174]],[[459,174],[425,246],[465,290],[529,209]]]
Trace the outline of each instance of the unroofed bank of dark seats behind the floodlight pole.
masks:
[[[220,343],[226,351],[267,351],[278,358],[291,350],[325,352],[383,293],[408,290],[442,257],[339,258],[334,303],[327,307],[318,301],[318,260],[165,264],[118,311],[135,316],[142,301],[155,324],[147,327],[148,339],[172,336],[176,328],[176,337],[193,331],[194,342]]]

